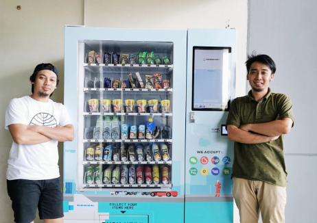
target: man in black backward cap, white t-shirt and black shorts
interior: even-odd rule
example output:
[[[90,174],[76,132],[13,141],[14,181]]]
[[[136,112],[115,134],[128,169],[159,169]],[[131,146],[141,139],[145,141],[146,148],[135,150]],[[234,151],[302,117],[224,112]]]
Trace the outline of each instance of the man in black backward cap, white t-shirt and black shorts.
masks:
[[[7,170],[14,222],[33,223],[38,207],[45,223],[62,223],[57,145],[73,140],[73,124],[64,105],[49,99],[59,82],[56,67],[38,64],[30,81],[32,94],[12,99],[5,112],[14,141]]]

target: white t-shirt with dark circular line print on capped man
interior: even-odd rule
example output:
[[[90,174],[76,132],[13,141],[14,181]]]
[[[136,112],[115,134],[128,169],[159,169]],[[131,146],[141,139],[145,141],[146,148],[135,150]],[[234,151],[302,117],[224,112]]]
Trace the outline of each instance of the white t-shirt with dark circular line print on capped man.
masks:
[[[71,124],[67,109],[49,99],[43,103],[23,96],[12,99],[5,111],[5,129],[10,124],[38,124],[55,128]],[[12,143],[8,160],[7,179],[45,180],[60,176],[58,170],[58,141],[33,145]]]

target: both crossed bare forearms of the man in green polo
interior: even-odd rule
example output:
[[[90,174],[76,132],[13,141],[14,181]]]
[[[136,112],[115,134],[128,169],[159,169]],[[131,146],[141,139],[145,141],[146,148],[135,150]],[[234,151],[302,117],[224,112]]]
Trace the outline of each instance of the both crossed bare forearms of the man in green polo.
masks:
[[[228,139],[244,144],[258,144],[277,140],[280,135],[289,133],[293,124],[291,118],[283,118],[282,120],[278,120],[278,118],[279,116],[277,120],[261,124],[242,124],[239,128],[233,124],[228,124]]]

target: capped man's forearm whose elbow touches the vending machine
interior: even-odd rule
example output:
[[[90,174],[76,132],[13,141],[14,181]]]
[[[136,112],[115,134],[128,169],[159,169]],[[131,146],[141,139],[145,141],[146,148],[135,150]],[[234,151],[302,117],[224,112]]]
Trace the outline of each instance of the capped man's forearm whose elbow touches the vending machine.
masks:
[[[67,124],[64,127],[57,126],[56,128],[44,127],[40,125],[29,125],[27,129],[50,137],[58,142],[73,141],[73,124]]]

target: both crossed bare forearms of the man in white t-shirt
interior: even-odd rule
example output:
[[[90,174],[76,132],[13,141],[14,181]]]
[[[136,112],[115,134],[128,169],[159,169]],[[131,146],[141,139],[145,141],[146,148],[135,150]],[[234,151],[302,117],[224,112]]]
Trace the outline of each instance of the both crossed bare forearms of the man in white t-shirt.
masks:
[[[59,142],[73,141],[73,124],[64,127],[59,125],[56,128],[44,127],[40,125],[10,124],[9,131],[16,144],[40,144],[56,140]]]

